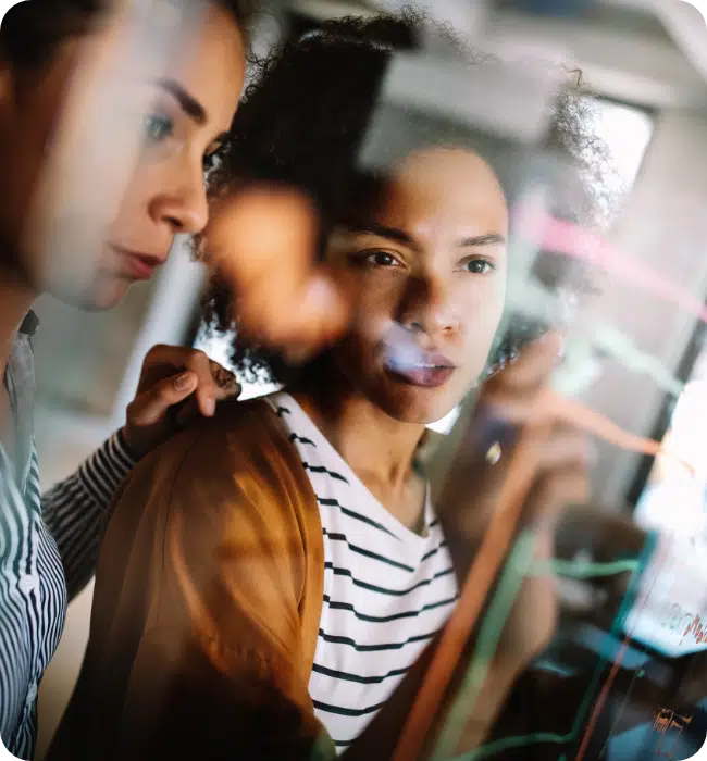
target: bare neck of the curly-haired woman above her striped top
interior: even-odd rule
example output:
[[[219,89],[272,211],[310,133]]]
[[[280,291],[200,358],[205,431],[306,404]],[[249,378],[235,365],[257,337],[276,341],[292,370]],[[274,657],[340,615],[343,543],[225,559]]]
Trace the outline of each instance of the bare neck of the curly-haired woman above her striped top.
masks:
[[[408,487],[413,458],[424,425],[401,423],[358,394],[335,369],[327,369],[317,383],[302,384],[293,397],[374,491],[393,497]]]

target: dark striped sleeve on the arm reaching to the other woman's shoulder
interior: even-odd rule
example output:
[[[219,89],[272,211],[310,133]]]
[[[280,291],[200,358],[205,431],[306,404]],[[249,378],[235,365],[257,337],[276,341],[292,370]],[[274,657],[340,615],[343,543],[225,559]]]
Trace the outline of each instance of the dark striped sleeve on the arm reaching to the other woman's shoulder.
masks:
[[[94,576],[108,507],[136,462],[119,431],[41,498],[45,523],[64,565],[70,600]]]

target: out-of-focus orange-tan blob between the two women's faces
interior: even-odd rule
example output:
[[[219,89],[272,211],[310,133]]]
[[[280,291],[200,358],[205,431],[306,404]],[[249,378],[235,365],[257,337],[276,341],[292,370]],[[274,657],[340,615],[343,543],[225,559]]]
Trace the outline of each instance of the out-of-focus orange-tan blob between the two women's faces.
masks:
[[[207,260],[231,283],[240,329],[305,359],[345,329],[349,303],[314,262],[313,207],[289,190],[258,188],[222,201],[207,229]]]

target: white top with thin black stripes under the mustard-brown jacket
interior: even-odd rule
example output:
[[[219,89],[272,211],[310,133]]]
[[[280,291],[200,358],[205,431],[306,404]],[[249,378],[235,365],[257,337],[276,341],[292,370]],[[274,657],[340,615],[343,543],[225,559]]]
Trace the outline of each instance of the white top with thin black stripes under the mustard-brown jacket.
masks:
[[[457,582],[429,498],[419,535],[373,497],[289,395],[266,400],[319,500],[324,600],[309,691],[343,752],[444,626]]]

